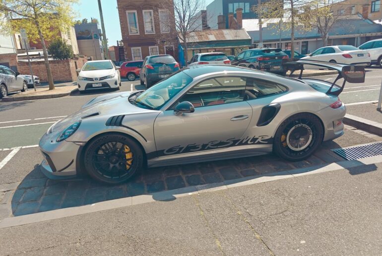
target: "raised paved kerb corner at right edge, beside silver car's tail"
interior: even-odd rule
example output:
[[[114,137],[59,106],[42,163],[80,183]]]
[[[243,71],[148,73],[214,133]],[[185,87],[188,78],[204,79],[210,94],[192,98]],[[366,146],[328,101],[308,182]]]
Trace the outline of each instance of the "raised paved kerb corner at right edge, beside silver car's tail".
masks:
[[[382,113],[377,103],[346,105],[344,124],[382,136]]]

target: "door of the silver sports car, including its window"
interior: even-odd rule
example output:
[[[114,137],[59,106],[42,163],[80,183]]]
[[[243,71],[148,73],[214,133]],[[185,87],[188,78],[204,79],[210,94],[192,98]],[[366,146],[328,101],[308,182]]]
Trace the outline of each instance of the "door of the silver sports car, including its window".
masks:
[[[193,113],[175,115],[175,103],[155,119],[158,157],[197,154],[234,146],[245,134],[252,108],[244,101],[246,82],[226,76],[204,80],[177,101],[193,104]]]

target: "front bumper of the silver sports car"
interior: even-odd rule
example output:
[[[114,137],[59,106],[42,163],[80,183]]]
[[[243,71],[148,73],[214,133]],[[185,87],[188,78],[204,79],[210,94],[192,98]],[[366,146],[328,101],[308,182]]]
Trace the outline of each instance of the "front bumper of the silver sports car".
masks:
[[[69,142],[56,142],[56,135],[44,134],[39,147],[44,160],[41,163],[41,171],[54,179],[67,179],[76,176],[77,153],[79,145]]]

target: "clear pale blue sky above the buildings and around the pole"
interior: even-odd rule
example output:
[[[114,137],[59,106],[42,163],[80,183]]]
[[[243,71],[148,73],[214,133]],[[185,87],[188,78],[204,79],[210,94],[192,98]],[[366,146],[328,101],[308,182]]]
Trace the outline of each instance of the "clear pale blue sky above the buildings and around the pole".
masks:
[[[205,0],[205,5],[208,5],[213,0]],[[104,16],[106,36],[109,39],[108,45],[117,45],[118,40],[122,40],[120,17],[118,15],[117,0],[101,0],[102,13]],[[97,0],[79,0],[78,4],[74,4],[74,11],[77,13],[77,19],[97,18],[100,22],[101,19],[98,10]]]

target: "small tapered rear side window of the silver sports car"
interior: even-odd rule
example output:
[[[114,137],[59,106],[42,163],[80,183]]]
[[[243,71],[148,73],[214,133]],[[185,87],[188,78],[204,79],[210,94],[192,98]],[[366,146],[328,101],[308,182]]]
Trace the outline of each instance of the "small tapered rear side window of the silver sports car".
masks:
[[[278,85],[270,81],[259,79],[247,79],[246,92],[244,99],[252,100],[279,94],[287,91],[288,89],[283,85]]]

